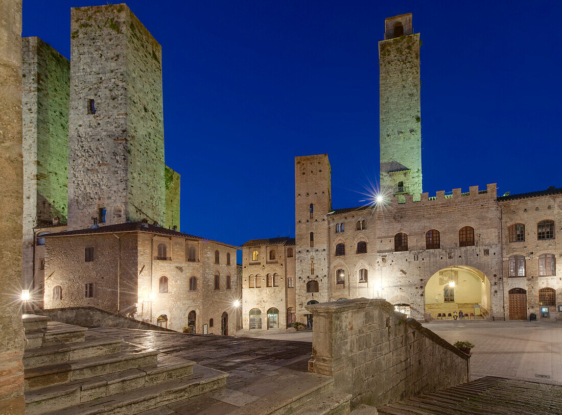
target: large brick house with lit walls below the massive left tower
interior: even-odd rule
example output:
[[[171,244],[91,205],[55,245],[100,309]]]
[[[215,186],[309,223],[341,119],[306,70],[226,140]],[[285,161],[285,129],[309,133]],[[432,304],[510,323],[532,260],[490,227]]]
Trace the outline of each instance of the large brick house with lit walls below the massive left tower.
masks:
[[[47,309],[96,307],[197,333],[239,329],[238,247],[141,222],[46,240]]]

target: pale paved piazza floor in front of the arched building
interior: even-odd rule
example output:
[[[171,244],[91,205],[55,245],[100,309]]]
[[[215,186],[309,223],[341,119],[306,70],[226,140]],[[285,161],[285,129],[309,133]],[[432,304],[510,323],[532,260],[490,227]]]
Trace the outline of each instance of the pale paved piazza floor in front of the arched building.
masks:
[[[562,322],[457,320],[423,325],[450,343],[467,340],[476,345],[470,359],[473,379],[500,376],[562,385]],[[312,341],[310,330],[250,335]]]

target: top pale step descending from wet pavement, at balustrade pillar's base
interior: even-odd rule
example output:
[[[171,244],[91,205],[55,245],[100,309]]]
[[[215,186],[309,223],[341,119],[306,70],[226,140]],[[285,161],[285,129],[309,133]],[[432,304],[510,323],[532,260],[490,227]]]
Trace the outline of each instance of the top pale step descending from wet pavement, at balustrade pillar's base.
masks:
[[[311,399],[325,392],[333,391],[334,378],[316,373],[303,373],[302,379],[291,386],[276,390],[273,394],[262,396],[228,415],[285,415],[302,408]]]

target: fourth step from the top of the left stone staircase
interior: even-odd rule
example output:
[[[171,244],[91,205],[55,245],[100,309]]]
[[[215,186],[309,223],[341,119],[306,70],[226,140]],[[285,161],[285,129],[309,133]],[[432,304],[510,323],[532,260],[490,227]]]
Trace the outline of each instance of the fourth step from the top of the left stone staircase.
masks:
[[[152,366],[157,363],[157,355],[157,350],[138,347],[127,352],[77,359],[29,369],[25,368],[25,391],[39,389],[40,387],[62,385],[74,380],[107,375],[108,373],[125,371],[141,366]]]

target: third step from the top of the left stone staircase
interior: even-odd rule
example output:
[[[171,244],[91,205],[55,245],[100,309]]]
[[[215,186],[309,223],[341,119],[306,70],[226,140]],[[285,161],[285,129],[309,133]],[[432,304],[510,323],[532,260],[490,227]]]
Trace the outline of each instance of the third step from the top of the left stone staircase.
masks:
[[[77,359],[114,354],[121,351],[123,339],[99,336],[87,332],[79,343],[57,343],[51,346],[28,348],[24,353],[24,367],[64,363]]]

